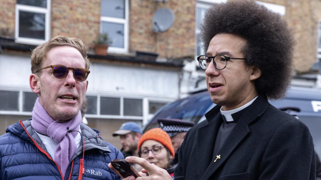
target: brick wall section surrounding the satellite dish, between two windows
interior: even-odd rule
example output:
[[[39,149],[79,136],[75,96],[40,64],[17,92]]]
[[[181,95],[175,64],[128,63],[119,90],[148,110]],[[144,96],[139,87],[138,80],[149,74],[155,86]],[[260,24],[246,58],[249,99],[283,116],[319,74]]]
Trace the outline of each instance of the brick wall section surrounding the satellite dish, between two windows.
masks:
[[[157,9],[163,7],[174,12],[175,21],[168,31],[155,33],[152,31],[152,18]],[[154,52],[166,58],[194,56],[194,0],[171,0],[165,3],[131,0],[129,27],[132,52]]]

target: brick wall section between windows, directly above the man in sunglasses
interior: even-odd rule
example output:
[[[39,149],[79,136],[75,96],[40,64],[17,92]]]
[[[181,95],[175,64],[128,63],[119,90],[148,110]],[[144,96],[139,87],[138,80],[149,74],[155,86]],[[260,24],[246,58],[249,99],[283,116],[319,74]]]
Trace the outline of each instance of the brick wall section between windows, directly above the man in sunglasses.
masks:
[[[99,34],[100,0],[52,0],[51,36],[80,38],[85,45]]]

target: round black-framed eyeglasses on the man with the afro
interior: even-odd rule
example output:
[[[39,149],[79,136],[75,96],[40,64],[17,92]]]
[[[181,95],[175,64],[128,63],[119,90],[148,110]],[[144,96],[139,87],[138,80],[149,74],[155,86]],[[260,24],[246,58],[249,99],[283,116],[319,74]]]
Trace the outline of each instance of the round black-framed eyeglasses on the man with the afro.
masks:
[[[214,60],[213,63],[215,68],[218,70],[222,70],[227,66],[227,61],[229,61],[230,59],[246,60],[246,58],[231,58],[229,56],[224,56],[222,54],[217,54],[216,56],[200,55],[197,57],[197,61],[203,70],[207,69],[207,67],[210,65],[212,60]]]

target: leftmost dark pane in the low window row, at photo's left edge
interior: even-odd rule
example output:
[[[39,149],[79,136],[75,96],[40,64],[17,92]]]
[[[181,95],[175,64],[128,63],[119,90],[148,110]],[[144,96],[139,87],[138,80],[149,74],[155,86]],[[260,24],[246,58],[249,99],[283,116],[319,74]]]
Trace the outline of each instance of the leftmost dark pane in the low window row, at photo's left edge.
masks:
[[[19,110],[18,97],[19,92],[0,91],[0,110]]]

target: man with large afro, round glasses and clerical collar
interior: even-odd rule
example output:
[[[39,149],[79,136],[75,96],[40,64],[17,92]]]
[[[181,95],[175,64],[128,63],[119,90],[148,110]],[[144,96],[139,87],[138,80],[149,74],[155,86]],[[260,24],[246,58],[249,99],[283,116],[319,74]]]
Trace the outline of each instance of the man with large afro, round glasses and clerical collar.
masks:
[[[187,132],[175,180],[315,179],[308,127],[267,101],[282,98],[291,81],[294,39],[283,17],[255,1],[229,1],[208,9],[201,31],[207,51],[197,60],[217,106]],[[126,160],[149,179],[169,179]]]

